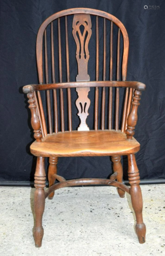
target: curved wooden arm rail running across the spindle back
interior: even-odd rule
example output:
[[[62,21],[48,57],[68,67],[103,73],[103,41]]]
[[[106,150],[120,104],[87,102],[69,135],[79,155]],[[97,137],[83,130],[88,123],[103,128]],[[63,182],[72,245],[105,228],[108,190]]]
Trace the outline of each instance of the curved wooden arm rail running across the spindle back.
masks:
[[[23,87],[23,92],[28,94],[33,91],[44,91],[63,88],[78,87],[128,87],[137,91],[144,91],[146,86],[142,82],[136,81],[85,81],[85,82],[63,82],[63,83],[47,83],[47,84],[29,84]]]

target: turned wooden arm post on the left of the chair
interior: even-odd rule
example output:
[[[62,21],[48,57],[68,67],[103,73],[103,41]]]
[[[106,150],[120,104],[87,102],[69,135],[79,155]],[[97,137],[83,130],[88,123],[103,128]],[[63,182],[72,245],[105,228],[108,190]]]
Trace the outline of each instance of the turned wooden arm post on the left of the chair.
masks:
[[[37,142],[41,142],[42,134],[41,134],[41,124],[40,120],[37,114],[37,106],[36,106],[36,101],[34,97],[34,91],[32,86],[24,86],[23,87],[23,92],[27,94],[29,100],[29,108],[31,110],[31,124],[32,128],[34,130],[34,137],[37,140]]]

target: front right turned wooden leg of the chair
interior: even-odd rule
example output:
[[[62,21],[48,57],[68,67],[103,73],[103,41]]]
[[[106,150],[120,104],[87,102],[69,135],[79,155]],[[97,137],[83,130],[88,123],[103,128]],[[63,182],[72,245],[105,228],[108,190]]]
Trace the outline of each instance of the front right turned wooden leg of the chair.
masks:
[[[136,165],[134,154],[128,155],[128,179],[130,184],[130,196],[132,207],[136,216],[135,230],[140,244],[146,241],[146,225],[143,223],[143,199],[140,187],[139,170]]]

